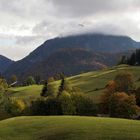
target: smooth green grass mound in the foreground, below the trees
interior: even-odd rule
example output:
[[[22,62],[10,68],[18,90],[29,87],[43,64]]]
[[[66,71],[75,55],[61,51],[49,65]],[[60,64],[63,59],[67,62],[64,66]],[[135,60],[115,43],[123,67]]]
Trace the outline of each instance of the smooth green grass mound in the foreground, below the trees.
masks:
[[[140,121],[96,117],[18,117],[0,122],[0,140],[139,140]]]

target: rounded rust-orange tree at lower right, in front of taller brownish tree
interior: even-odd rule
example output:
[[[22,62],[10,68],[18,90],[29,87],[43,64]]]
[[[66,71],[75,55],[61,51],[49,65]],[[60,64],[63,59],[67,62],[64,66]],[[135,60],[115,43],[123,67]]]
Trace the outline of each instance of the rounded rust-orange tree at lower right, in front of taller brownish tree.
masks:
[[[134,95],[124,92],[113,93],[109,99],[109,115],[111,117],[130,118],[137,114],[136,99]]]

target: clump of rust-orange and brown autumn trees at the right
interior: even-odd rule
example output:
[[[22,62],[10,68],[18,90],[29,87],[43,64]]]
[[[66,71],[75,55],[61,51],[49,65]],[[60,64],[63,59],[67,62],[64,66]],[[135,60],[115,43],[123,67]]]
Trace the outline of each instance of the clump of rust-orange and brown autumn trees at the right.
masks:
[[[101,96],[102,113],[129,118],[137,113],[134,82],[130,73],[120,73],[110,81]]]

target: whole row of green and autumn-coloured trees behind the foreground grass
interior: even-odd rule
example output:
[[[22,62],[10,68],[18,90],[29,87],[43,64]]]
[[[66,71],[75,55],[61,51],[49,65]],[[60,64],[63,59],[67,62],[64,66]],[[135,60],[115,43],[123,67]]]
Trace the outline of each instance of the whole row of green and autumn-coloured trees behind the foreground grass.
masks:
[[[1,93],[7,90],[7,83],[2,80]],[[22,99],[13,99],[1,94],[1,105],[12,116],[19,115],[81,115],[138,118],[140,113],[140,87],[136,87],[133,75],[122,72],[107,83],[100,96],[99,103],[80,89],[71,86],[64,75],[54,84],[48,79],[40,97],[27,103]],[[5,97],[5,98],[3,98]]]

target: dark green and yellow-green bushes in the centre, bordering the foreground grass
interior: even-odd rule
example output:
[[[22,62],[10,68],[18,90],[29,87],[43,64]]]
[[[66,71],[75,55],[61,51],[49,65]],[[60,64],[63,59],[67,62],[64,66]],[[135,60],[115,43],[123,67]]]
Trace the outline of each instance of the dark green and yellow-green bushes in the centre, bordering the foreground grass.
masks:
[[[31,115],[82,115],[93,116],[97,106],[83,94],[63,91],[59,98],[38,98],[31,102]]]

